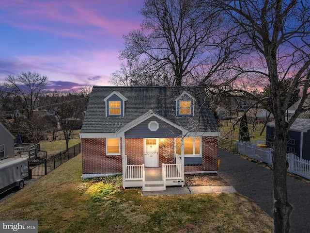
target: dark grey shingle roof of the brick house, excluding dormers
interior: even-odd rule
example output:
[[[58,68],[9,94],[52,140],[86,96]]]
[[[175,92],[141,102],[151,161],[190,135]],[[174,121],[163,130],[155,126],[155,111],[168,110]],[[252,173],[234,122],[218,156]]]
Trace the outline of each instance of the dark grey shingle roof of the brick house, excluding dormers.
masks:
[[[124,116],[106,117],[104,99],[113,91],[127,99]],[[176,116],[175,100],[183,91],[196,100],[194,116]],[[217,121],[208,107],[202,87],[94,86],[81,133],[115,133],[150,110],[189,131],[218,132]]]

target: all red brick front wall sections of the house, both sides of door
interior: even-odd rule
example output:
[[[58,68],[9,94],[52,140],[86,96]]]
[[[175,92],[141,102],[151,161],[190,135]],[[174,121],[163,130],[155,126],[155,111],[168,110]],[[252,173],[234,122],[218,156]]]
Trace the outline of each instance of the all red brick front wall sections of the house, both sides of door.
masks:
[[[83,174],[122,173],[121,155],[106,155],[106,138],[82,138]],[[159,166],[173,163],[173,138],[159,139]],[[143,138],[126,138],[125,154],[128,164],[143,164]],[[218,137],[202,137],[202,165],[186,165],[185,171],[217,171]]]

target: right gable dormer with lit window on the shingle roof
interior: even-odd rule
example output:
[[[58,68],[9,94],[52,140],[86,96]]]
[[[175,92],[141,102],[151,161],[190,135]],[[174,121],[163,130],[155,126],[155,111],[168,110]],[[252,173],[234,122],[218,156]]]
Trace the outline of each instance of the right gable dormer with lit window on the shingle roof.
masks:
[[[194,116],[194,98],[184,91],[175,100],[176,116]]]

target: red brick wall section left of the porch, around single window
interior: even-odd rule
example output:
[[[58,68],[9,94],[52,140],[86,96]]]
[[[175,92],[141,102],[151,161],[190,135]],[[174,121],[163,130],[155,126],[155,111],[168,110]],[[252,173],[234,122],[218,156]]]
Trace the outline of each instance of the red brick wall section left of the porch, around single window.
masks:
[[[121,155],[106,155],[106,138],[82,138],[82,173],[122,173]]]

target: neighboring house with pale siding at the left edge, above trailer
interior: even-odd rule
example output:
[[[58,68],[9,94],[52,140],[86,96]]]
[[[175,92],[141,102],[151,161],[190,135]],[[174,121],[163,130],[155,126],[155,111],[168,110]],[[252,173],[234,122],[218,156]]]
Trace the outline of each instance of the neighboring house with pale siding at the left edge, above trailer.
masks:
[[[0,160],[14,158],[14,139],[15,136],[0,123]]]

